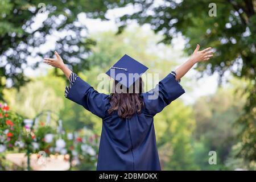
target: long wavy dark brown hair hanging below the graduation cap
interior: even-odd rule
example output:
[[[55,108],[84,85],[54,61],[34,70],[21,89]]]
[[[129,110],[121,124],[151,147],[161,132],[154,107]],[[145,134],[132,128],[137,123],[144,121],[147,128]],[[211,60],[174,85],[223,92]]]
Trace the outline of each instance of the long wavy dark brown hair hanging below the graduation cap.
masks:
[[[108,113],[112,114],[117,111],[120,118],[131,118],[135,113],[141,113],[144,107],[143,99],[140,97],[143,87],[144,83],[141,77],[130,88],[126,88],[115,81],[110,94]]]

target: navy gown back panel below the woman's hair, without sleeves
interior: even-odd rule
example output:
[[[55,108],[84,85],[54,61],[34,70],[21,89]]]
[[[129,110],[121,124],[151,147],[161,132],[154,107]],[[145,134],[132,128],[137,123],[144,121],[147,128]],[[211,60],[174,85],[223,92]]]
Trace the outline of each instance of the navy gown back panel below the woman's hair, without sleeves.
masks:
[[[97,170],[160,170],[152,116],[104,118]]]

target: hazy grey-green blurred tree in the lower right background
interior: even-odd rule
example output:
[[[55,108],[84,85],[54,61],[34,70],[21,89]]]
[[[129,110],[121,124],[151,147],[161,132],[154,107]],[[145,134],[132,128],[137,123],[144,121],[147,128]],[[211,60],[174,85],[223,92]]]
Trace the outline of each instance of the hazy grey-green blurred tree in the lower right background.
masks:
[[[201,168],[225,169],[227,160],[229,163],[232,161],[231,156],[234,161],[238,159],[233,155],[233,148],[241,144],[237,138],[241,126],[235,124],[237,118],[243,114],[242,108],[246,96],[242,94],[241,88],[247,84],[244,80],[233,78],[225,88],[218,88],[212,96],[200,97],[195,102],[193,106],[196,119],[196,130],[193,133],[195,162]],[[202,163],[200,158],[202,156],[209,158],[209,151],[217,152],[217,165],[210,166],[207,160]],[[244,164],[240,163],[240,168],[244,168]],[[249,163],[247,164],[250,166]],[[231,165],[228,167],[234,169]]]

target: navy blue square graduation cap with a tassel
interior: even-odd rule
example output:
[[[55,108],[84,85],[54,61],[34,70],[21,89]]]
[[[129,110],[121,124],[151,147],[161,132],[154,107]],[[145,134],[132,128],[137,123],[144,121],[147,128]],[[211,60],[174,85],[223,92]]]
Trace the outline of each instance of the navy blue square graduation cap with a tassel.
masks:
[[[146,66],[125,54],[106,72],[106,75],[129,88],[147,69]]]

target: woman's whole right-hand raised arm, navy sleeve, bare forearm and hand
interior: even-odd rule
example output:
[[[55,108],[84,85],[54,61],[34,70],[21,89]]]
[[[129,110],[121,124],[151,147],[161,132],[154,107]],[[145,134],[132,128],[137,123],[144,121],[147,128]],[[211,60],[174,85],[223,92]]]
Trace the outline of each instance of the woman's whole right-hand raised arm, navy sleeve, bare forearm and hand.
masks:
[[[143,100],[145,103],[145,112],[150,115],[159,113],[169,105],[176,98],[180,97],[185,90],[179,84],[180,78],[183,77],[189,69],[193,67],[199,61],[209,60],[213,56],[213,51],[210,51],[210,47],[199,51],[200,46],[197,44],[193,55],[184,64],[173,73],[168,74],[158,85],[149,92],[143,93]]]

